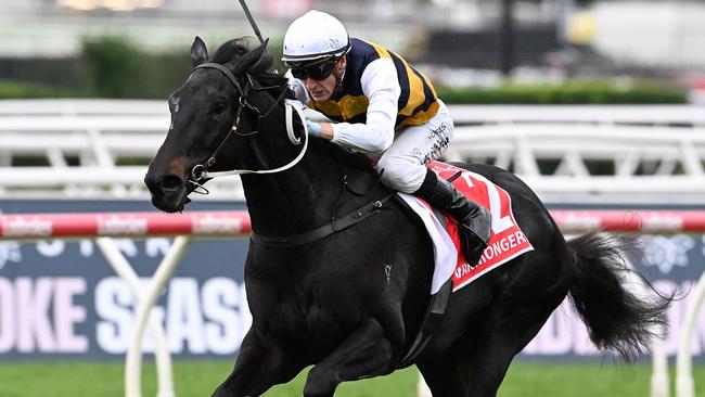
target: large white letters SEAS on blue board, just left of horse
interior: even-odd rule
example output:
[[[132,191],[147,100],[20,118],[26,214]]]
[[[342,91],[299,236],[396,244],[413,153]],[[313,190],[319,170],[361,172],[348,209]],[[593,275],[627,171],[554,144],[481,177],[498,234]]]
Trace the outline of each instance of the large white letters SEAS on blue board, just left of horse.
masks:
[[[148,279],[141,280],[144,287]],[[165,325],[172,354],[235,353],[252,324],[244,284],[227,278],[211,278],[202,285],[194,278],[174,278],[165,290],[166,306],[156,316]],[[134,304],[129,289],[117,277],[101,280],[95,287],[97,342],[111,354],[124,354],[130,343]],[[145,332],[145,353],[154,344]]]

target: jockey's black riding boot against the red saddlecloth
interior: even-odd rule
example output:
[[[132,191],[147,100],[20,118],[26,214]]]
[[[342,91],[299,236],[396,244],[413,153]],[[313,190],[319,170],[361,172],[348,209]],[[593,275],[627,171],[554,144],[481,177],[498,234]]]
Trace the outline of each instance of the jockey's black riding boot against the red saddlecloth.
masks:
[[[475,267],[489,242],[491,223],[487,208],[467,200],[456,187],[430,169],[414,194],[456,218],[463,255],[467,264]]]

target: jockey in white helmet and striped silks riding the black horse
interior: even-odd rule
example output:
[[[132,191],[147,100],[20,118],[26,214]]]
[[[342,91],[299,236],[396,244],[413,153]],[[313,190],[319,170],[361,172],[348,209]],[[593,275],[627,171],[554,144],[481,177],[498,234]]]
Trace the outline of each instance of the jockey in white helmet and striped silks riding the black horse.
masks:
[[[426,168],[453,136],[431,81],[385,48],[349,38],[337,18],[315,10],[290,25],[283,54],[298,100],[336,121],[307,120],[309,135],[379,158],[387,188],[450,214],[465,259],[475,266],[489,240],[489,213]]]

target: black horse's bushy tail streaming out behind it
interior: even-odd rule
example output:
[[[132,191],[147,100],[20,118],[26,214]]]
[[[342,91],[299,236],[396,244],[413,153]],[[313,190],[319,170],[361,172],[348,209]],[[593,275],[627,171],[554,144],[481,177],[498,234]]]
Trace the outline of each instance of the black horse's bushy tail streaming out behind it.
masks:
[[[568,246],[576,265],[571,298],[590,338],[599,348],[633,360],[666,323],[672,296],[656,292],[629,267],[628,258],[641,253],[636,238],[591,232],[571,240]],[[629,280],[629,274],[636,277]],[[629,291],[627,285],[636,289]],[[656,297],[646,299],[644,290],[656,292]]]

